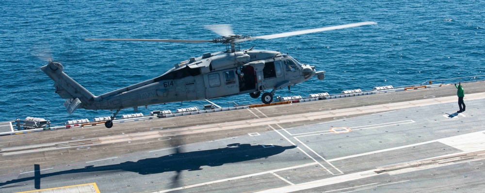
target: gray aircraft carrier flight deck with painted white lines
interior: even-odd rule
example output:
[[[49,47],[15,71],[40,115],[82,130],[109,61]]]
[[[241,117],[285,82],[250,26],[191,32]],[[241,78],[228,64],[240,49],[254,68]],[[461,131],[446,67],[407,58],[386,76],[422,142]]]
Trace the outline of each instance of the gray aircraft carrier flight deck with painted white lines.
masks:
[[[481,192],[485,82],[0,136],[0,193]],[[65,189],[57,189],[67,187]]]

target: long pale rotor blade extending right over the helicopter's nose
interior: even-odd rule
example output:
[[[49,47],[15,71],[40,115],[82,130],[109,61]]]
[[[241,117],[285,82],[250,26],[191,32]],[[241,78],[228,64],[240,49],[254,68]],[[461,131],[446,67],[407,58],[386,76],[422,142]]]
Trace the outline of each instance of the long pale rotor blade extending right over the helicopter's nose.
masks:
[[[344,24],[344,25],[338,25],[338,26],[329,26],[329,27],[323,27],[323,28],[315,28],[315,29],[309,29],[309,30],[301,30],[301,31],[294,31],[294,32],[276,33],[276,34],[271,34],[271,35],[261,35],[261,36],[256,36],[256,37],[253,37],[253,38],[257,38],[257,39],[275,39],[275,38],[280,38],[280,37],[288,37],[288,36],[293,36],[293,35],[301,35],[301,34],[315,33],[315,32],[323,32],[323,31],[330,31],[330,30],[338,30],[338,29],[344,29],[344,28],[353,28],[353,27],[364,26],[364,25],[372,25],[372,24],[377,24],[377,23],[376,22],[372,22],[372,21],[366,21],[366,22],[350,23],[350,24]]]

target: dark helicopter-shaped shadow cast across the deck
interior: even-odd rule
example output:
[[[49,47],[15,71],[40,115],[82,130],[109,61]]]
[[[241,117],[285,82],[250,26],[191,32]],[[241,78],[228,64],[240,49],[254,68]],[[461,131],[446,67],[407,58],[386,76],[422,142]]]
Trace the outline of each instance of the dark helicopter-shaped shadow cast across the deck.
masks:
[[[115,172],[115,171],[129,171],[141,175],[160,174],[163,172],[176,172],[176,176],[172,178],[173,184],[178,184],[178,177],[182,171],[197,171],[202,170],[202,166],[221,166],[225,163],[235,163],[242,161],[250,161],[256,159],[266,159],[270,156],[284,152],[286,149],[292,149],[296,146],[279,146],[265,148],[262,145],[250,144],[229,144],[227,147],[218,149],[209,149],[192,152],[176,152],[170,155],[147,158],[136,162],[126,161],[119,164],[104,165],[104,166],[86,166],[84,168],[65,170],[60,172],[40,174],[37,172],[40,168],[36,166],[35,175],[33,177],[23,177],[12,179],[6,182],[0,182],[0,188],[17,187],[18,185],[11,185],[19,182],[34,180],[35,189],[40,189],[40,179],[44,177],[61,176],[66,174],[79,173],[95,173],[100,176],[99,172]],[[109,173],[107,173],[108,175]],[[27,184],[24,184],[27,185]]]

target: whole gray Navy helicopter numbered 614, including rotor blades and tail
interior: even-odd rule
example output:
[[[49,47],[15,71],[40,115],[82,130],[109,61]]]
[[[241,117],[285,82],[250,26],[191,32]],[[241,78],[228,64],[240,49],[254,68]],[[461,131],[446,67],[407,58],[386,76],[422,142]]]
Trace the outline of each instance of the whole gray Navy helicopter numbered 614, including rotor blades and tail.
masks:
[[[316,28],[295,32],[263,36],[235,35],[230,25],[210,25],[206,29],[221,37],[212,40],[179,39],[85,39],[87,41],[152,41],[181,43],[223,43],[226,51],[205,53],[182,61],[154,79],[146,80],[94,96],[63,72],[63,65],[50,61],[41,69],[54,80],[55,92],[66,99],[64,106],[69,114],[77,108],[87,110],[116,110],[111,120],[105,122],[113,127],[113,119],[126,108],[153,104],[192,101],[248,93],[253,98],[269,104],[276,90],[306,81],[313,76],[325,78],[325,71],[316,71],[314,66],[300,63],[287,54],[278,51],[240,49],[239,43],[257,39],[274,39],[306,33],[323,32],[357,26],[372,25],[375,22],[359,22],[338,26]],[[238,49],[236,49],[236,45]],[[230,46],[230,48],[229,48]],[[271,90],[271,91],[267,91]]]

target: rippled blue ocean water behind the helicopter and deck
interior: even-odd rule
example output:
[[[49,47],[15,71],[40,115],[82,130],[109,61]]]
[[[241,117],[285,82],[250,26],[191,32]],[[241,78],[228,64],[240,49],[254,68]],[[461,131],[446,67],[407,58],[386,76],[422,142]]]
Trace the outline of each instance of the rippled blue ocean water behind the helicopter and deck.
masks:
[[[259,36],[361,21],[378,25],[249,41],[241,48],[279,50],[326,71],[275,96],[308,96],[404,86],[483,75],[485,0],[2,0],[0,121],[40,117],[53,123],[109,116],[78,109],[68,115],[53,81],[39,67],[49,59],[94,95],[157,77],[173,64],[223,44],[89,42],[85,38],[212,39],[203,28],[231,24]],[[220,106],[260,102],[248,95],[212,100]],[[205,101],[140,107],[148,114]],[[121,114],[134,113],[125,109]]]

